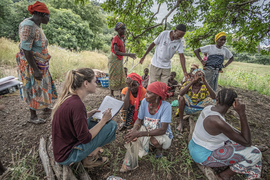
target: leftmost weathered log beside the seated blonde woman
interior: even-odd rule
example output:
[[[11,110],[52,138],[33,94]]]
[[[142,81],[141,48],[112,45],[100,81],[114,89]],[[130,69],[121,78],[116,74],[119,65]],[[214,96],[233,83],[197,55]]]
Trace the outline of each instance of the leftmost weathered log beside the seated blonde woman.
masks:
[[[46,140],[42,137],[39,143],[39,157],[41,158],[46,177],[48,180],[55,180],[54,173],[50,165],[50,160],[46,150]]]

